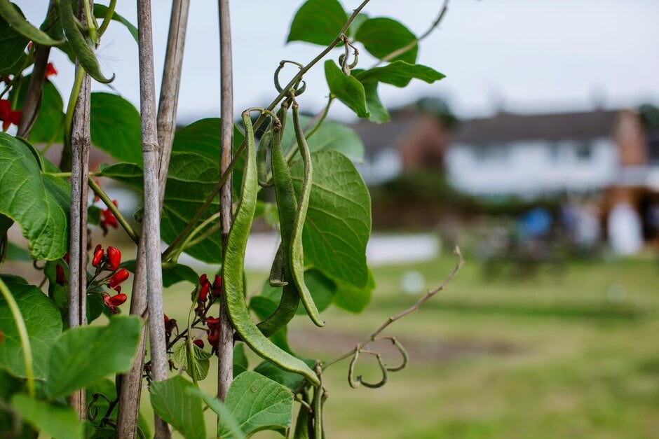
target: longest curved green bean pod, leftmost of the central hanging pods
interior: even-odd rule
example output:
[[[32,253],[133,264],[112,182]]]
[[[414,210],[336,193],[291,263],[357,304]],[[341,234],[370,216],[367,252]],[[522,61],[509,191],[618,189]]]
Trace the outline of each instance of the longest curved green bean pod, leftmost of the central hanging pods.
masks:
[[[280,349],[254,324],[245,304],[245,293],[243,291],[243,272],[245,265],[245,248],[250,228],[254,219],[254,211],[257,204],[257,169],[254,157],[254,129],[250,113],[243,113],[243,125],[245,125],[245,169],[243,171],[243,183],[240,190],[240,205],[233,218],[229,237],[224,252],[224,263],[222,264],[222,279],[224,284],[224,300],[226,301],[226,312],[231,319],[233,328],[242,340],[261,358],[290,372],[299,373],[309,382],[317,385],[318,377],[313,370],[291,354]]]

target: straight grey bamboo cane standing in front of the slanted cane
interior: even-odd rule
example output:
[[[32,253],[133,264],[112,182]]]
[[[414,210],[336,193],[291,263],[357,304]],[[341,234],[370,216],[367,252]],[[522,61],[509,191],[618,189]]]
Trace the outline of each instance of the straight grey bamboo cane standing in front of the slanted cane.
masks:
[[[154,381],[167,379],[167,347],[163,311],[163,271],[160,251],[160,202],[158,192],[158,132],[156,128],[156,84],[151,30],[151,1],[137,1],[137,29],[140,55],[140,118],[144,160],[144,251],[147,253],[147,302],[151,373]],[[170,438],[168,424],[154,415],[156,438]]]

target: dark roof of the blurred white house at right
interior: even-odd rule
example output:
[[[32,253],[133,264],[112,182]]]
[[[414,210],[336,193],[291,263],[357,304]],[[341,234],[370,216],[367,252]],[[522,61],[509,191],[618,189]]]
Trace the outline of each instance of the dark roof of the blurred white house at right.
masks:
[[[531,139],[587,140],[611,136],[619,111],[522,115],[499,113],[491,118],[464,120],[454,134],[458,144],[505,144]]]

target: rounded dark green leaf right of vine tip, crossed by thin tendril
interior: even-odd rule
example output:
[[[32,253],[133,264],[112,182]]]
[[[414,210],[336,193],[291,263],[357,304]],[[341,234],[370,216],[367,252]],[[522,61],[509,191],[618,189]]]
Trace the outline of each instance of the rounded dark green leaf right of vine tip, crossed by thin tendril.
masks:
[[[400,22],[379,17],[363,22],[355,35],[355,39],[361,41],[371,55],[380,59],[416,41],[416,36]],[[391,61],[401,60],[414,64],[418,50],[419,45],[415,44],[407,52],[398,55]]]

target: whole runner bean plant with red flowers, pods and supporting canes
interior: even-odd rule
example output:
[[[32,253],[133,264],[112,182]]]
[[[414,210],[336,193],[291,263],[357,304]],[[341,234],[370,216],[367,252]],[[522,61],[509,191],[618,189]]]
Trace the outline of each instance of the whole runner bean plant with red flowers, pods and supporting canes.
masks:
[[[273,66],[272,76],[262,78],[272,84],[272,101],[246,109],[234,125],[231,83],[240,72],[231,67],[228,3],[219,0],[222,118],[175,132],[189,0],[172,1],[157,104],[151,4],[137,1],[133,25],[115,11],[116,0],[108,1],[50,0],[43,22],[34,24],[19,6],[0,0],[0,265],[32,260],[43,277],[30,284],[0,274],[0,436],[167,438],[176,430],[186,438],[243,438],[264,429],[294,438],[331,435],[322,424],[330,395],[325,368],[349,360],[350,386],[386,384],[408,358],[395,337],[381,333],[445,283],[344,355],[305,358],[291,349],[292,319],[308,316],[316,326],[331,326],[323,310],[362,312],[375,288],[366,259],[370,198],[353,164],[364,148],[350,127],[327,114],[342,102],[359,118],[386,123],[379,84],[404,88],[414,79],[444,78],[416,60],[446,4],[416,36],[393,18],[369,15],[369,0],[304,1],[287,41],[320,46],[318,56]],[[114,89],[90,91],[92,83],[122,74],[97,60],[109,26],[125,27],[137,44],[140,111]],[[55,50],[75,64],[70,90],[50,82],[57,74],[49,62]],[[364,52],[372,65],[363,65]],[[327,104],[314,117],[302,116],[299,96],[325,86],[307,84],[305,75],[320,68]],[[294,75],[282,85],[284,71]],[[62,145],[55,161],[46,158],[53,144]],[[113,163],[90,172],[91,148]],[[139,194],[134,221],[119,211],[100,177]],[[257,218],[281,239],[268,279],[251,295],[245,248]],[[8,239],[14,224],[26,248]],[[96,227],[103,237],[91,242],[100,235],[90,235]],[[107,235],[110,229],[123,230],[135,244],[134,251],[121,247],[134,259],[122,256],[122,241],[118,232]],[[164,251],[161,241],[168,244]],[[183,253],[221,269],[198,273],[179,262]],[[461,263],[458,251],[447,281]],[[165,314],[163,288],[173,284],[191,292],[185,321]],[[368,349],[381,338],[398,348],[400,362],[389,365]],[[246,349],[259,362],[248,364]],[[376,358],[379,382],[355,376],[364,355]],[[210,368],[212,356],[217,370]],[[210,375],[217,376],[217,393],[201,390]],[[140,414],[143,398],[154,422]],[[205,410],[217,413],[216,424],[205,424]]]

